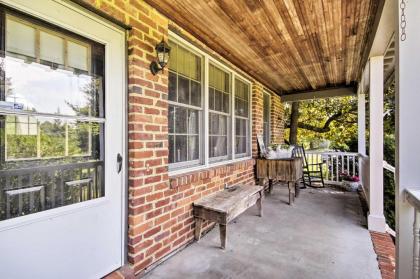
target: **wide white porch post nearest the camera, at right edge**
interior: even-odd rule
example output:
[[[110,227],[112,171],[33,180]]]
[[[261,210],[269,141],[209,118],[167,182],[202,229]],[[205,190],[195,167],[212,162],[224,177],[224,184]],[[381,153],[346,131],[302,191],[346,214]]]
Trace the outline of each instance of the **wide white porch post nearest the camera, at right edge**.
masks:
[[[395,1],[398,17],[395,22],[396,42],[396,263],[397,278],[413,276],[414,209],[404,198],[407,188],[420,189],[420,1]],[[401,41],[401,15],[407,20]]]

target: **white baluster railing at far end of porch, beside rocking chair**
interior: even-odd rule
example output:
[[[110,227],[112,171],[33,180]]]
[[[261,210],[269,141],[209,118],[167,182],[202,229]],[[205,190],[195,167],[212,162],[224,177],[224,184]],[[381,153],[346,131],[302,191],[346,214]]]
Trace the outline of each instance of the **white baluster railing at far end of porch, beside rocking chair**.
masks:
[[[306,152],[308,164],[325,163],[323,169],[325,183],[336,185],[342,183],[341,173],[359,176],[358,156],[359,153],[355,152]]]

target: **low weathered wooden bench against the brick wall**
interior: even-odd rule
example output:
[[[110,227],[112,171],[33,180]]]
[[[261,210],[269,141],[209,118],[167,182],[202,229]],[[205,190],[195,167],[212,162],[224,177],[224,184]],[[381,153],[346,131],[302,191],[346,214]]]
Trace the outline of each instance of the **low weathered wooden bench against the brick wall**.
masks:
[[[221,246],[225,249],[227,224],[254,204],[257,204],[259,216],[262,217],[263,195],[264,188],[261,186],[241,185],[227,188],[194,202],[195,239],[200,240],[203,221],[216,222],[219,224]]]

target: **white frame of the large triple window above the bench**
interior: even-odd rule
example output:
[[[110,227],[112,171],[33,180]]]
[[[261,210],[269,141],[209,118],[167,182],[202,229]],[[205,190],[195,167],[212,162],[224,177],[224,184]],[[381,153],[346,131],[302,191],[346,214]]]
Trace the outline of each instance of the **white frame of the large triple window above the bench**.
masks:
[[[236,72],[231,67],[227,66],[226,64],[218,61],[208,53],[202,51],[198,47],[194,46],[190,42],[186,41],[176,33],[169,31],[169,39],[176,44],[181,45],[182,47],[188,49],[188,51],[193,52],[196,55],[202,57],[202,119],[201,122],[203,128],[200,130],[200,160],[199,165],[191,165],[191,162],[185,163],[174,163],[169,164],[169,176],[175,176],[179,174],[184,174],[193,171],[199,171],[203,169],[207,169],[209,167],[214,166],[222,166],[226,164],[231,164],[240,161],[246,161],[252,158],[252,82],[244,77],[243,75]],[[223,161],[215,161],[219,158],[209,158],[209,64],[213,64],[214,66],[220,68],[221,70],[227,72],[230,75],[230,82],[231,82],[231,94],[230,94],[230,120],[231,120],[231,129],[230,129],[230,154],[228,154],[229,158],[226,158]],[[249,116],[248,116],[248,153],[249,154],[236,154],[235,155],[235,79],[240,79],[242,82],[246,83],[249,86]],[[168,101],[169,104],[177,105],[178,103]]]

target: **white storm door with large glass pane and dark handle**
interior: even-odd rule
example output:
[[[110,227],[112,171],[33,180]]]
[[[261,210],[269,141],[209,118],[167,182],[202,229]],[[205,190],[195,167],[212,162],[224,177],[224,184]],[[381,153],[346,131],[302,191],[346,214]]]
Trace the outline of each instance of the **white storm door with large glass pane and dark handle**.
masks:
[[[0,3],[0,278],[100,278],[124,259],[125,32]]]

